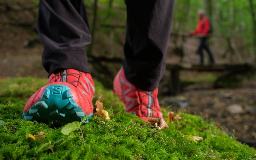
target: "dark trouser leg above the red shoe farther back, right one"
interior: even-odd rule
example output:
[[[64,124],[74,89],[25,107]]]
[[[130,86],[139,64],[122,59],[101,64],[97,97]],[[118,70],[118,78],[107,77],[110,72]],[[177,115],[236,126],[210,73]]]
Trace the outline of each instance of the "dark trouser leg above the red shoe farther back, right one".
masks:
[[[174,0],[125,0],[125,3],[124,75],[137,88],[153,91],[165,70]]]

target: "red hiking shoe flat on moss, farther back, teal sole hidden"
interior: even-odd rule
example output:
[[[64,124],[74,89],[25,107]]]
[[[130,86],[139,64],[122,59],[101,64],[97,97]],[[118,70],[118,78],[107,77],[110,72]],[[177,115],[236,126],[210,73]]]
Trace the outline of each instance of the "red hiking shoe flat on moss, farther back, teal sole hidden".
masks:
[[[136,114],[146,121],[150,118],[163,118],[157,93],[158,89],[148,92],[132,85],[124,76],[123,68],[114,79],[114,91],[125,104],[126,112]]]

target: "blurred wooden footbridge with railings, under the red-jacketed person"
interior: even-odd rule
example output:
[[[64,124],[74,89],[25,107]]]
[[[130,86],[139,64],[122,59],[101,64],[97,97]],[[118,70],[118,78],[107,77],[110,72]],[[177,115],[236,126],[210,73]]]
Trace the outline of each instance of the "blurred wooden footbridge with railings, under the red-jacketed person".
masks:
[[[112,25],[112,24],[102,24],[101,27],[111,28],[110,30],[110,41],[113,41],[114,37],[114,29],[115,28],[126,28],[124,25]],[[180,34],[180,33],[171,33],[171,36],[181,38],[179,48],[181,52],[184,52],[184,44],[187,38],[199,38],[198,36],[189,36],[188,34]],[[223,53],[223,56],[227,56],[230,54],[230,57],[236,57],[238,63],[234,64],[232,59],[228,64],[214,64],[214,65],[191,65],[191,66],[182,66],[180,64],[166,64],[166,70],[169,71],[170,74],[170,84],[169,84],[169,93],[170,94],[177,94],[180,92],[180,71],[187,70],[187,71],[198,71],[198,72],[226,72],[228,74],[239,74],[249,70],[255,71],[255,66],[253,64],[245,63],[241,53],[236,49],[232,39],[233,36],[223,36],[223,35],[216,35],[211,34],[208,35],[209,37],[221,38],[226,39],[227,48]],[[110,47],[113,48],[113,47]],[[121,58],[106,58],[102,57],[94,57],[92,55],[88,55],[88,58],[91,60],[96,60],[98,62],[110,62],[110,63],[122,63]],[[182,62],[182,57],[181,62]]]

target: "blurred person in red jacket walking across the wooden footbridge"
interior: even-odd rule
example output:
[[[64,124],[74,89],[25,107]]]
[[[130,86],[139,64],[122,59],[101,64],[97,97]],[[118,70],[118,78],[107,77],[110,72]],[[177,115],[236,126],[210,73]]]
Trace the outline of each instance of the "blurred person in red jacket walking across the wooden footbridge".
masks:
[[[212,27],[210,24],[210,20],[205,16],[204,11],[198,11],[199,21],[197,23],[196,30],[190,32],[190,35],[198,35],[200,36],[199,45],[197,47],[197,52],[200,55],[200,64],[204,64],[204,54],[203,49],[208,52],[211,63],[214,63],[212,52],[210,48],[206,44],[206,40],[208,38],[208,34],[212,31]]]

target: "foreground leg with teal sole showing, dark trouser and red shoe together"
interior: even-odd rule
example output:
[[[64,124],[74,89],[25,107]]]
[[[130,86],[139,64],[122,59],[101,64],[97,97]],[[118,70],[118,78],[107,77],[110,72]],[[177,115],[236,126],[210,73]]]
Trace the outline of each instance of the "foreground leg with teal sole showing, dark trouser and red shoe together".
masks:
[[[37,29],[49,84],[28,99],[22,117],[56,125],[92,117],[94,83],[84,50],[91,36],[83,0],[40,0]]]

